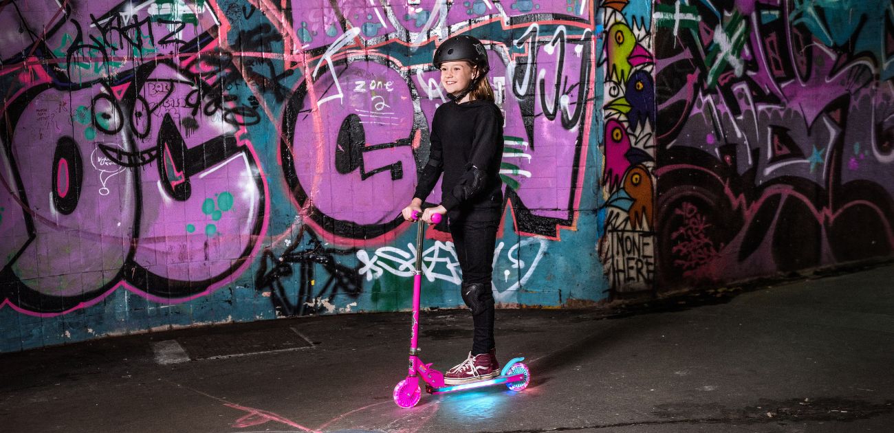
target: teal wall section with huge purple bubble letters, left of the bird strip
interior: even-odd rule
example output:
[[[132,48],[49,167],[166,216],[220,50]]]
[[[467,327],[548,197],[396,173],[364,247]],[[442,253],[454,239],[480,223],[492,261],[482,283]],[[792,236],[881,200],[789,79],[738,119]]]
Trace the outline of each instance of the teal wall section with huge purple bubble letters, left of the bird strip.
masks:
[[[599,185],[618,187],[628,167],[612,162],[603,174],[599,59],[618,58],[612,88],[621,91],[652,70],[629,44],[606,51],[599,6],[0,4],[0,352],[408,309],[415,226],[399,212],[426,163],[434,110],[448,102],[434,47],[456,34],[485,42],[506,119],[498,302],[604,299],[604,275],[626,269],[629,252],[603,271]],[[642,38],[647,8],[631,16],[642,22],[625,35]],[[654,111],[623,122],[651,131]],[[649,133],[630,132],[628,147],[647,151]],[[642,182],[651,187],[645,174]],[[651,204],[641,207],[618,229],[637,242],[652,227]],[[449,234],[437,227],[426,242],[423,303],[460,306]],[[651,279],[652,266],[623,279]]]

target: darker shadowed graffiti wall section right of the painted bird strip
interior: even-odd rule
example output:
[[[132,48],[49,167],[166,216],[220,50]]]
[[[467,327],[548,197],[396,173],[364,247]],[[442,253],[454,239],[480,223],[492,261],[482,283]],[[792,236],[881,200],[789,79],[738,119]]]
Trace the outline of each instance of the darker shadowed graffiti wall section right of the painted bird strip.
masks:
[[[653,16],[659,286],[890,256],[894,5],[661,0]]]

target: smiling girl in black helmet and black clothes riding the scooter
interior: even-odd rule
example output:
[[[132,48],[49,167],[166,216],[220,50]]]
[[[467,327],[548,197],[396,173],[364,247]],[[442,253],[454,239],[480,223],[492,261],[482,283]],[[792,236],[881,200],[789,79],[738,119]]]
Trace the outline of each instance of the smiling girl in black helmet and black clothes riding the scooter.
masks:
[[[502,216],[500,161],[503,152],[502,112],[487,82],[490,70],[485,46],[475,37],[451,37],[434,51],[434,66],[451,101],[434,112],[428,163],[403,218],[432,192],[443,173],[441,204],[422,212],[446,214],[462,270],[462,300],[472,311],[474,339],[466,361],[444,374],[444,383],[491,379],[500,375],[493,342],[493,248]]]

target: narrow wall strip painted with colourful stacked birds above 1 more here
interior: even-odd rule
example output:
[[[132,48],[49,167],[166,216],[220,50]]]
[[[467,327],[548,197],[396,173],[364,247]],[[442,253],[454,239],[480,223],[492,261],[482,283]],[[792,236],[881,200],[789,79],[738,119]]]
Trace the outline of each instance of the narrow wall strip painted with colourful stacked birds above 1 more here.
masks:
[[[600,257],[611,299],[655,280],[655,87],[651,2],[603,3],[604,105]]]

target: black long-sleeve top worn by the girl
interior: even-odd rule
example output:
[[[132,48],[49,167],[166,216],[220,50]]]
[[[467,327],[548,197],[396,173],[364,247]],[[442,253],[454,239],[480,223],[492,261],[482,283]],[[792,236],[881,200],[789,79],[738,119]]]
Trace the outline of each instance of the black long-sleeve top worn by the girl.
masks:
[[[431,151],[413,194],[423,202],[443,172],[441,204],[452,219],[499,218],[502,211],[500,162],[503,153],[502,112],[491,101],[442,104],[434,111]],[[485,173],[485,185],[465,201],[454,187],[471,166]]]

